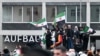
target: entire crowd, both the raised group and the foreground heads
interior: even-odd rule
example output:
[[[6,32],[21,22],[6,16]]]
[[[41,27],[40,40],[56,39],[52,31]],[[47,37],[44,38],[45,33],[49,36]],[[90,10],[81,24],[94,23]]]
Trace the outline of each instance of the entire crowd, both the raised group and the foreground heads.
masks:
[[[84,32],[84,27],[52,25],[52,29],[46,28],[46,49],[40,43],[30,42],[17,46],[12,56],[95,56],[92,50],[87,51],[89,35],[95,31]],[[2,56],[11,56],[7,48]],[[100,56],[100,50],[97,50],[96,56]]]

